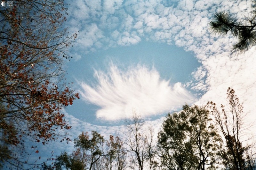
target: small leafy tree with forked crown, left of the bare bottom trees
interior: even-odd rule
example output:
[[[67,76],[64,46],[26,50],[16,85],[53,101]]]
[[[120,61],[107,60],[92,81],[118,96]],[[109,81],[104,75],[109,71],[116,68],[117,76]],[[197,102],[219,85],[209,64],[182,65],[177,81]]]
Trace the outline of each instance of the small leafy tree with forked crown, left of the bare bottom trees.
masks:
[[[103,156],[102,146],[104,143],[103,136],[96,131],[92,131],[92,138],[89,139],[88,133],[82,133],[75,139],[75,147],[80,148],[81,152],[83,153],[82,157],[82,164],[83,168],[85,169],[86,166],[84,165],[84,158],[86,155],[90,156],[89,162],[89,170],[92,169],[93,164]]]

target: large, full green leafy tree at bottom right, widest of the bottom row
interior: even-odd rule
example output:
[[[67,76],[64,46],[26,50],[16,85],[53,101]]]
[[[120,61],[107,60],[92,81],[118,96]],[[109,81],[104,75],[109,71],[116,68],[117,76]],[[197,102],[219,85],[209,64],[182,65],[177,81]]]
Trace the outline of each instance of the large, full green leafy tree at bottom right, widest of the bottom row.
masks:
[[[204,107],[185,105],[180,113],[169,113],[158,134],[162,166],[177,170],[214,167],[221,139],[211,121]]]

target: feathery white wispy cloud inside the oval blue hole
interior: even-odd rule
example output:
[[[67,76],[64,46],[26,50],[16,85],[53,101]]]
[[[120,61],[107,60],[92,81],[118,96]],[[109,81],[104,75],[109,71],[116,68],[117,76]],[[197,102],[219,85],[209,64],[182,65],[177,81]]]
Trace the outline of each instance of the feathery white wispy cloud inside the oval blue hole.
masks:
[[[181,83],[170,85],[159,72],[138,64],[126,70],[110,64],[108,71],[95,70],[95,85],[79,82],[83,100],[100,107],[97,118],[120,120],[136,110],[141,116],[157,115],[191,103],[193,96]]]

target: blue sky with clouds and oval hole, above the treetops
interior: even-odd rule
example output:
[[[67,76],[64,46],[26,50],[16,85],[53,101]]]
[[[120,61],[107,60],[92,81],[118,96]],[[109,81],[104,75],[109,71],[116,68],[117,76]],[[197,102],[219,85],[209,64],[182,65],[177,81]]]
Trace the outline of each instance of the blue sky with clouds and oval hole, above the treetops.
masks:
[[[225,104],[236,91],[255,134],[256,50],[232,54],[236,39],[212,35],[216,11],[243,17],[251,0],[76,0],[69,3],[69,32],[77,32],[67,82],[80,99],[65,109],[72,139],[97,130],[104,137],[124,129],[138,112],[155,134],[168,112],[184,104]],[[40,147],[40,146],[39,146]],[[42,153],[71,152],[54,143]]]

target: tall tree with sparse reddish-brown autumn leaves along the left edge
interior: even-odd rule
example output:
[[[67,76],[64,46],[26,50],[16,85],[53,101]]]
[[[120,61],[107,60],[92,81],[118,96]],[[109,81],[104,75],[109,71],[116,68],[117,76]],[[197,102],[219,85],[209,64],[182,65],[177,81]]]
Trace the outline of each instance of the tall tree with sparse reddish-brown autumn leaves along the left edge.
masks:
[[[63,108],[79,96],[64,82],[63,64],[76,38],[62,28],[66,10],[63,0],[18,0],[1,8],[0,145],[6,151],[1,162],[28,163],[13,152],[25,137],[43,144],[59,137],[69,141],[60,134],[71,128]]]

